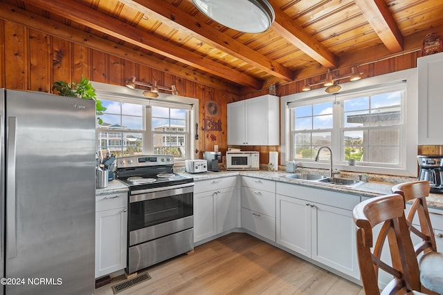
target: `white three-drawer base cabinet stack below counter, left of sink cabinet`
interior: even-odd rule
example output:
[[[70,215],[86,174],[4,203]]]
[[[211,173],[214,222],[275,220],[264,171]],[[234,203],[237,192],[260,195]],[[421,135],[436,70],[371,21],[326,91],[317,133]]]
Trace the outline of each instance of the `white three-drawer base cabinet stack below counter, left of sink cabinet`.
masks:
[[[275,242],[275,181],[242,176],[242,227]]]

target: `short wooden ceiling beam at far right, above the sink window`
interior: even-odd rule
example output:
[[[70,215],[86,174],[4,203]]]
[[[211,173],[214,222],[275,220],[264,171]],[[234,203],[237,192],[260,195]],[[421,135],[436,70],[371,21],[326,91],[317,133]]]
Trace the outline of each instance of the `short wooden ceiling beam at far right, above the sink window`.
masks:
[[[391,53],[403,50],[403,35],[385,0],[354,0]]]

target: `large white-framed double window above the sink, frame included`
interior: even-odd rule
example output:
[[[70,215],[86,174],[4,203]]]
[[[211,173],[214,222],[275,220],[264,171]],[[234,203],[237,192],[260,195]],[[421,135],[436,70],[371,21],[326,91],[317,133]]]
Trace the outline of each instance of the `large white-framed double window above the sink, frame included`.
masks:
[[[417,173],[417,77],[404,70],[282,97],[282,161],[302,167],[413,176]],[[406,120],[407,118],[407,120]],[[350,166],[348,160],[356,160]]]

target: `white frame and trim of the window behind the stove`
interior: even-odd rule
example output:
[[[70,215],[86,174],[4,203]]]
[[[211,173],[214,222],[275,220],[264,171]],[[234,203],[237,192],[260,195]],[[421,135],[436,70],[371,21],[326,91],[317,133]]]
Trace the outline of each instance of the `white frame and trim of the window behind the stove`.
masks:
[[[189,109],[189,116],[188,116],[188,134],[189,134],[189,140],[188,140],[188,146],[187,146],[187,158],[181,158],[181,159],[174,159],[174,166],[184,166],[185,160],[192,160],[195,158],[195,123],[199,120],[199,99],[192,98],[192,97],[183,97],[179,95],[170,95],[167,93],[159,93],[159,97],[157,98],[146,98],[143,96],[142,89],[131,89],[127,88],[125,86],[116,86],[111,84],[105,84],[100,82],[91,82],[91,85],[93,88],[96,89],[96,95],[98,99],[105,99],[105,100],[113,100],[117,102],[128,102],[131,104],[142,104],[144,106],[163,106],[167,108],[173,108],[174,106],[180,106],[182,105],[183,108]],[[148,109],[145,108],[144,112],[147,113]],[[147,118],[147,114],[145,114],[145,118]],[[98,116],[100,117],[100,116]],[[150,121],[151,120],[145,120],[145,130],[144,131],[133,131],[132,133],[143,133],[143,140],[145,141],[145,144],[143,144],[143,154],[151,154],[152,151],[150,151],[150,147],[152,146],[152,131],[150,129]],[[96,129],[97,133],[100,132],[100,129],[98,127]],[[126,131],[126,130],[125,130]],[[117,131],[119,132],[119,131]],[[149,142],[147,141],[149,140]],[[149,144],[149,145],[148,145]],[[96,146],[99,146],[98,143],[98,135],[96,136]],[[149,149],[147,147],[149,146]]]

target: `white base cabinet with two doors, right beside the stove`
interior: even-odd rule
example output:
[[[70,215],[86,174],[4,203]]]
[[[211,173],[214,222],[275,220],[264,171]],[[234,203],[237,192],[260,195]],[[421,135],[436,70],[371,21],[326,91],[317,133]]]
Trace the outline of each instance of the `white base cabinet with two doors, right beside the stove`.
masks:
[[[237,177],[195,182],[194,242],[235,228]]]

